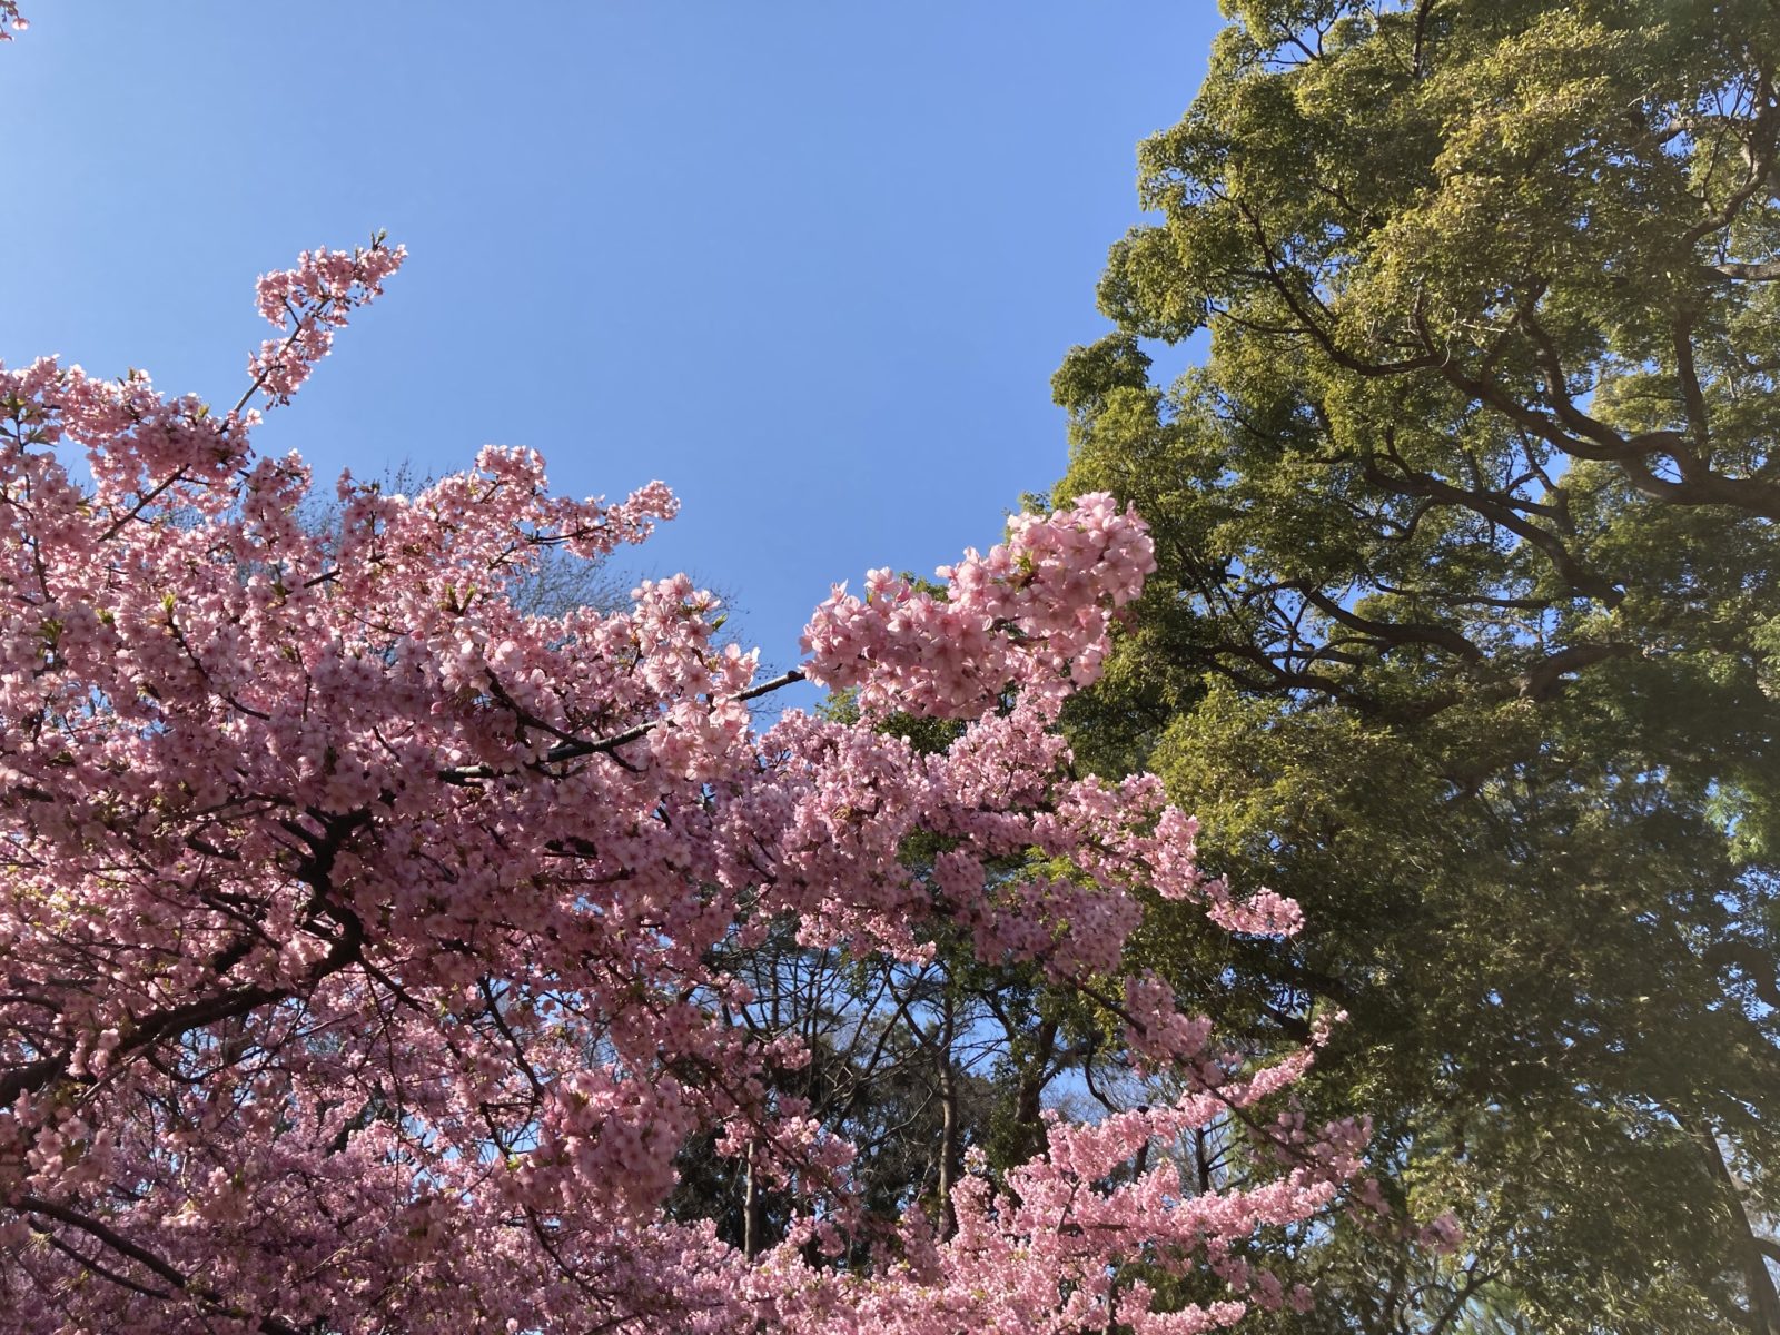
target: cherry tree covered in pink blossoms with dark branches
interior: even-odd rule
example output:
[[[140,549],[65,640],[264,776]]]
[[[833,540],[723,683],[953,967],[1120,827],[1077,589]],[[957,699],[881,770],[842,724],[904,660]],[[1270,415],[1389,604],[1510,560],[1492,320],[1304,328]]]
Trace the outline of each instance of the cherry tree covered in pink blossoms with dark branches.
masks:
[[[1298,910],[1203,876],[1155,780],[1077,780],[1054,730],[1153,568],[1143,522],[1091,495],[942,595],[874,571],[773,680],[685,577],[522,611],[546,554],[644,539],[668,488],[566,500],[484,449],[415,495],[342,477],[315,530],[310,470],[251,449],[255,397],[288,404],[402,258],[262,278],[278,333],[228,411],[0,367],[0,1331],[1184,1335],[1305,1307],[1244,1246],[1330,1207],[1365,1129],[1282,1104],[1315,1043],[1244,1063],[1121,963],[1148,897],[1250,934]],[[862,719],[756,728],[792,680]],[[965,723],[929,755],[892,708]],[[1175,1095],[1048,1114],[1034,1161],[886,1219],[773,1079],[808,1050],[735,1024],[730,961],[787,929],[920,961],[942,924],[1089,999]],[[1214,1121],[1273,1177],[1184,1180],[1166,1146]],[[694,1137],[797,1203],[781,1241],[666,1216]]]

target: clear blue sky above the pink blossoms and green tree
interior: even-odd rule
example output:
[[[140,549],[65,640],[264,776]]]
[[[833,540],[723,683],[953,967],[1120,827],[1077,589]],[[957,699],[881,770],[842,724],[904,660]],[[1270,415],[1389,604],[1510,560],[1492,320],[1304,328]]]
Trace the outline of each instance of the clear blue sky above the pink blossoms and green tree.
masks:
[[[789,666],[867,566],[986,546],[1066,459],[1048,377],[1105,324],[1207,0],[34,0],[0,46],[0,358],[231,402],[253,279],[409,247],[260,447],[320,479],[532,445],[660,477],[628,557],[737,595]]]

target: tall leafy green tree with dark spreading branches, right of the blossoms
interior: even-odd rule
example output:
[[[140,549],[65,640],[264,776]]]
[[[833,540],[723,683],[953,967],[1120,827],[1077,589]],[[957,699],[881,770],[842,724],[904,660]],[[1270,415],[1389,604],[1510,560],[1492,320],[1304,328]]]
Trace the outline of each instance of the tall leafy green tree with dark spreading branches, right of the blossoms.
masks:
[[[1465,1225],[1305,1328],[1775,1335],[1780,5],[1225,11],[1054,381],[1162,562],[1073,728],[1310,929],[1146,949],[1346,1007],[1317,1098]]]

